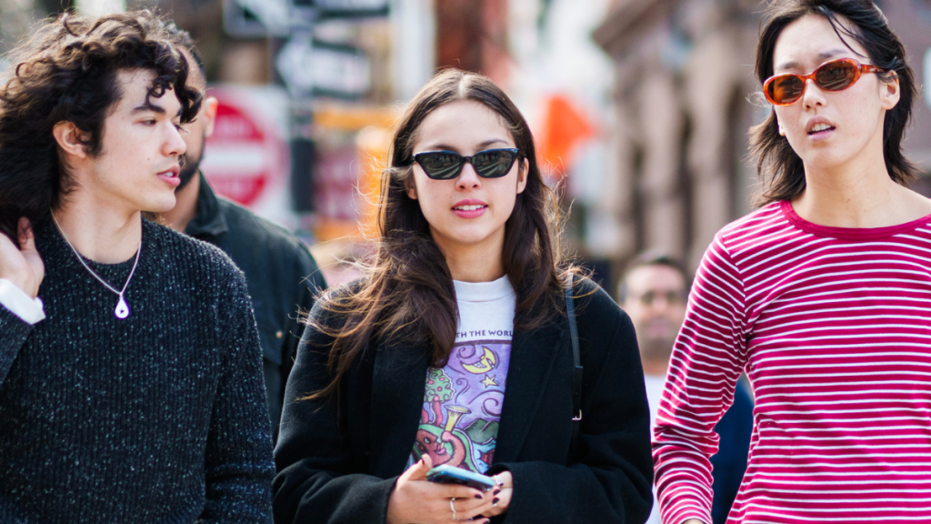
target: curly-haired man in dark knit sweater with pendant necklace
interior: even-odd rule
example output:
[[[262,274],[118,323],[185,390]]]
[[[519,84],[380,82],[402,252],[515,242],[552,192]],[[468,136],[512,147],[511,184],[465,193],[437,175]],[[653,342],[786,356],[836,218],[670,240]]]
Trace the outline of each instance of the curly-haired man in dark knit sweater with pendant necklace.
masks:
[[[45,22],[0,90],[0,521],[266,522],[242,273],[150,222],[200,95],[147,11]],[[41,299],[39,298],[41,297]]]

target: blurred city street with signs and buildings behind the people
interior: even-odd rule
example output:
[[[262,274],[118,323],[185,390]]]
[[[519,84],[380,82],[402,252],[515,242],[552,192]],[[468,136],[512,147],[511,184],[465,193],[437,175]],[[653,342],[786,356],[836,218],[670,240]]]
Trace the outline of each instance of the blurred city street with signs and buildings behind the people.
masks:
[[[882,0],[920,84],[931,0]],[[490,76],[529,120],[569,249],[614,289],[643,249],[695,269],[751,210],[760,0],[0,0],[0,52],[74,8],[152,7],[189,31],[220,100],[203,172],[311,246],[331,284],[366,253],[404,104],[438,68]],[[931,94],[906,145],[931,172]],[[931,196],[931,179],[916,186]]]

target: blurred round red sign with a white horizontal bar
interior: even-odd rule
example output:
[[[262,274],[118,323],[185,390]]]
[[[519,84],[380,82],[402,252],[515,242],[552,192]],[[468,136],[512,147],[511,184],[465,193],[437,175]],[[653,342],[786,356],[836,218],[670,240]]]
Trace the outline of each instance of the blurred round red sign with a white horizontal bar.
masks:
[[[232,89],[210,90],[209,95],[219,104],[201,170],[217,193],[252,206],[287,180],[287,143],[262,117],[262,101],[255,100],[261,95]]]

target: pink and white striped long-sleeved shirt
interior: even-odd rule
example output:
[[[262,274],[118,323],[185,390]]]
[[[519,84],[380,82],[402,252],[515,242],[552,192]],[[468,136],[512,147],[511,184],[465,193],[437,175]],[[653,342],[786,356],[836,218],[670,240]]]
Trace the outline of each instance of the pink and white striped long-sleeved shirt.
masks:
[[[756,396],[729,523],[931,519],[931,215],[826,228],[776,202],[708,247],[654,430],[663,522],[711,522],[715,423]]]

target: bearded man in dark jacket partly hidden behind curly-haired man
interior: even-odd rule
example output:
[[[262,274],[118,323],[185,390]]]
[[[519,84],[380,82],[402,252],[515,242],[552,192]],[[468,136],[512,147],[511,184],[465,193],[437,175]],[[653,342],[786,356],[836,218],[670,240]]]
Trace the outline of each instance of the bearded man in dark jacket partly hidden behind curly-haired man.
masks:
[[[309,312],[314,296],[327,284],[302,241],[246,208],[217,197],[200,172],[218,101],[207,96],[207,74],[191,35],[173,23],[166,24],[166,29],[191,63],[188,85],[205,96],[196,119],[186,124],[187,132],[182,133],[187,152],[181,185],[175,190],[178,203],[161,216],[171,228],[222,249],[246,273],[262,343],[268,417],[272,437],[277,439],[285,384],[303,332],[299,311]]]

